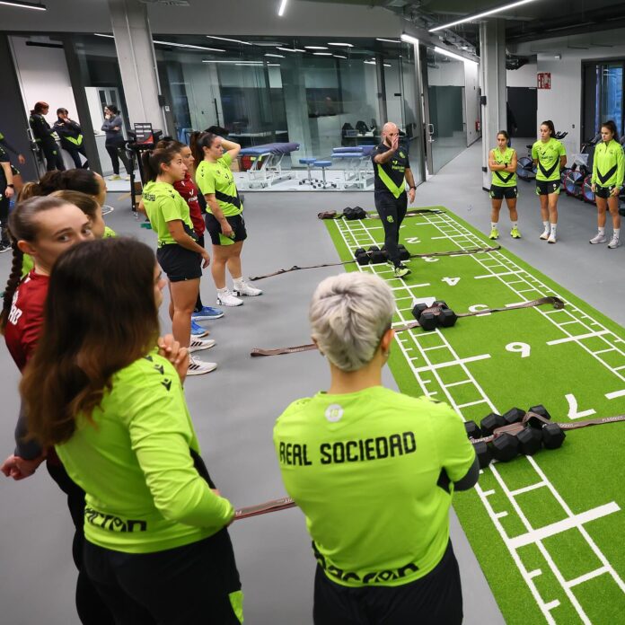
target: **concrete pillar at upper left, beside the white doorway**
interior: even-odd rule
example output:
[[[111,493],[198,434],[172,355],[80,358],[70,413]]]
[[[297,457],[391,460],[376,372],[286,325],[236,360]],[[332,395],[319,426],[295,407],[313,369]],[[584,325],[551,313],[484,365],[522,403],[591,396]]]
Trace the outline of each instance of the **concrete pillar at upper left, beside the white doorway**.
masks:
[[[167,135],[173,128],[167,128],[163,114],[145,4],[137,0],[108,1],[130,124],[149,122],[154,128],[162,128],[163,134]]]

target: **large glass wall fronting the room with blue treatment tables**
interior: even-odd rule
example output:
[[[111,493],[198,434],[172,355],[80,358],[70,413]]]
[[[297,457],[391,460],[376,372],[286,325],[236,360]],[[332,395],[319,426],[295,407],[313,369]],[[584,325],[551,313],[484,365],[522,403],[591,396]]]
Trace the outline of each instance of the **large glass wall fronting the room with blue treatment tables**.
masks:
[[[163,40],[172,37],[160,36]],[[337,157],[337,148],[381,142],[381,128],[397,123],[411,152],[415,180],[421,181],[418,87],[411,45],[401,41],[319,38],[199,41],[177,37],[181,45],[156,46],[165,99],[171,102],[176,135],[225,128],[243,147],[295,143],[283,158],[283,170],[301,169],[300,159],[330,161],[337,188],[369,188],[373,168],[366,159]],[[419,149],[414,149],[417,145]],[[412,148],[412,149],[411,149]],[[242,161],[242,168],[253,161]],[[360,170],[353,185],[346,170]],[[276,187],[274,187],[276,188]]]

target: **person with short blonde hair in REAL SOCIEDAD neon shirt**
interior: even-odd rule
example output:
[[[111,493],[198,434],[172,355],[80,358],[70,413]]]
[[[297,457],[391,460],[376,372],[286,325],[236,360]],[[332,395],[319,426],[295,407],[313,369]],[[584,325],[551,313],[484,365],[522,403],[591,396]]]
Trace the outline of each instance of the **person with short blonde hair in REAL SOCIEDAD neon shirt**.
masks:
[[[449,506],[480,468],[449,406],[383,387],[394,311],[380,277],[323,280],[309,317],[330,389],[292,403],[274,427],[317,559],[315,625],[462,622]]]

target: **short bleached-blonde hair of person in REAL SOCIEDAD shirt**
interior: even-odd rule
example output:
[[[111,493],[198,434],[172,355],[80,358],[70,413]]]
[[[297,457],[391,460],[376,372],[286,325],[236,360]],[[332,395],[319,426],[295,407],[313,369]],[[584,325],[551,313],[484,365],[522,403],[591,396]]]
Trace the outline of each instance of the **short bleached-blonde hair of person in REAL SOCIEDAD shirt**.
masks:
[[[360,272],[327,277],[312,295],[312,339],[341,371],[357,371],[371,362],[394,311],[382,278]]]

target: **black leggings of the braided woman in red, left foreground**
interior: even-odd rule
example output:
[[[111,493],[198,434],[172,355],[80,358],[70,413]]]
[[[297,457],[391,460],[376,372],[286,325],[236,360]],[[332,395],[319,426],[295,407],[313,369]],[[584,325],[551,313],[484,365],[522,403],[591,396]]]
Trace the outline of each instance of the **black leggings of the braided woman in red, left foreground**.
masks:
[[[47,462],[46,464],[50,477],[57,482],[58,488],[67,496],[67,507],[74,522],[72,555],[78,569],[75,597],[78,618],[83,625],[113,625],[115,621],[109,608],[102,601],[84,568],[84,490],[72,481],[60,462],[58,464]]]

